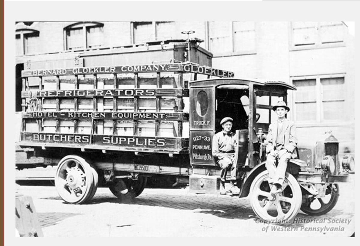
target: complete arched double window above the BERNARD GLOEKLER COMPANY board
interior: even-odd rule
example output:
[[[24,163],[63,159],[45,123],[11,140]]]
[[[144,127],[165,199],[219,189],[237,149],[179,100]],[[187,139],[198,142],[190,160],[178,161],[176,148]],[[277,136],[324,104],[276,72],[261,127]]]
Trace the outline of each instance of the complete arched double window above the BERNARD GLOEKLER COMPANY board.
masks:
[[[104,45],[104,24],[77,22],[64,28],[64,49],[99,48]]]

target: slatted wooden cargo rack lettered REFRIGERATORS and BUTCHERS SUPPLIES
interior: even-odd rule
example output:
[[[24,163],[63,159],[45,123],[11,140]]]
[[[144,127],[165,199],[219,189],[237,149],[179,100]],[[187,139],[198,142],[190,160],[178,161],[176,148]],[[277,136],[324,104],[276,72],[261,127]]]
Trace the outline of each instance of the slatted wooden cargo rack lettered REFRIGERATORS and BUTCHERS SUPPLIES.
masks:
[[[193,63],[24,70],[21,146],[187,153]]]

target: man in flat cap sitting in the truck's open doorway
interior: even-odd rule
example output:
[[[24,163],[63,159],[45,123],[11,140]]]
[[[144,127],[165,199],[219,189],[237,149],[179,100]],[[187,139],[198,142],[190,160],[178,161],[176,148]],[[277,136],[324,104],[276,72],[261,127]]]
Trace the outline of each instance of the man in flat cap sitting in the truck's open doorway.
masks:
[[[239,189],[235,186],[235,148],[238,146],[238,140],[235,137],[235,133],[231,132],[233,119],[225,117],[221,120],[220,125],[222,127],[222,131],[216,133],[212,139],[212,155],[214,156],[216,163],[221,168],[220,194],[226,195],[225,181],[228,170],[230,170],[230,189],[228,192],[232,194],[239,194]]]

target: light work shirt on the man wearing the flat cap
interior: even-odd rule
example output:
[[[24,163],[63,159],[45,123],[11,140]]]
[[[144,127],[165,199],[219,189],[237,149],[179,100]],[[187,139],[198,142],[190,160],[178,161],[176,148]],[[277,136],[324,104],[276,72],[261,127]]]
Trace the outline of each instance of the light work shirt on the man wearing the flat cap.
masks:
[[[235,147],[238,141],[235,133],[226,133],[224,130],[214,135],[212,139],[212,155],[219,159],[235,155]]]

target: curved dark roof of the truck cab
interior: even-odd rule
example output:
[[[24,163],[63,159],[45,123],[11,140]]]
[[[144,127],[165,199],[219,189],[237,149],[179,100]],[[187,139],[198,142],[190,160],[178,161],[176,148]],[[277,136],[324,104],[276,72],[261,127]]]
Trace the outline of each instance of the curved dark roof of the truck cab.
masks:
[[[190,87],[217,87],[223,84],[239,84],[239,85],[249,85],[256,84],[262,86],[276,85],[284,87],[291,90],[296,90],[296,86],[292,84],[285,83],[283,81],[273,81],[273,80],[264,80],[264,79],[234,79],[234,78],[218,78],[218,79],[204,79],[204,80],[194,80],[190,81]]]

